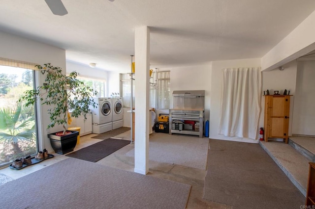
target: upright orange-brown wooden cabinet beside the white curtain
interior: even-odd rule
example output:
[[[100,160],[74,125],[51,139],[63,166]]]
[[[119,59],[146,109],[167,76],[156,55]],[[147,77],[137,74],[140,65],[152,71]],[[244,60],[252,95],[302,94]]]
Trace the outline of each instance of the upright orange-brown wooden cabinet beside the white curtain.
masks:
[[[265,141],[268,138],[283,138],[288,143],[289,95],[265,95]]]

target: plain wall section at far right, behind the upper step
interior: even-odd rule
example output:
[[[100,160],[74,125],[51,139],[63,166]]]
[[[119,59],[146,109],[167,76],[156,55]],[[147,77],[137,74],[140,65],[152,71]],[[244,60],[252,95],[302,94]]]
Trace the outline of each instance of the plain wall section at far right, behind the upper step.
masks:
[[[315,136],[314,78],[315,61],[298,61],[292,134]]]

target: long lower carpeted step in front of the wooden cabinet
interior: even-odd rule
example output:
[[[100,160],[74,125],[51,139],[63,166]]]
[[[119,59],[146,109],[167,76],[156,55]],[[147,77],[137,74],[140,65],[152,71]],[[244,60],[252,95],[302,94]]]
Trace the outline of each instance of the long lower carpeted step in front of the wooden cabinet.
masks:
[[[290,181],[306,196],[310,160],[284,142],[259,141],[259,144]]]

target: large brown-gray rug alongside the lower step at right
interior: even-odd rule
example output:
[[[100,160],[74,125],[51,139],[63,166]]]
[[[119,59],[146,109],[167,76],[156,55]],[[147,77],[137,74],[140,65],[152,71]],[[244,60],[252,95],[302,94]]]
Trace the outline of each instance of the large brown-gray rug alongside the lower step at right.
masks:
[[[204,199],[233,209],[299,209],[304,196],[259,144],[210,139]]]

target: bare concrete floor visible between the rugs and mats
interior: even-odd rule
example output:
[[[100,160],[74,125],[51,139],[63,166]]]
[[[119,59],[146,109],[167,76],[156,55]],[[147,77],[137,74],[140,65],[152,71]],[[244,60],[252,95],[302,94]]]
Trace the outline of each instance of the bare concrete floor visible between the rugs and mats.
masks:
[[[80,144],[76,146],[74,151],[82,149],[84,147],[90,146],[94,143],[101,141],[100,139],[91,138],[96,134],[89,134],[86,136],[81,136]],[[130,131],[119,134],[115,136],[116,138],[122,138],[130,140]],[[195,136],[191,136],[192,138]],[[110,167],[115,167],[127,171],[133,172],[134,168],[134,157],[126,157],[125,154],[130,150],[134,149],[134,144],[129,144],[122,149],[116,151],[115,153],[97,161],[97,164],[106,165]],[[20,178],[34,171],[37,171],[45,166],[49,166],[60,160],[67,158],[64,155],[55,154],[55,157],[47,159],[41,163],[28,166],[21,170],[13,170],[10,168],[3,168],[0,170],[0,176],[4,176],[6,181]],[[187,204],[188,209],[230,209],[231,206],[209,202],[204,199],[204,179],[206,175],[205,170],[200,170],[196,168],[186,167],[176,164],[159,163],[155,161],[149,161],[149,173],[148,175],[154,176],[160,179],[171,180],[179,183],[186,183],[191,185],[191,190],[189,194],[189,200]]]

